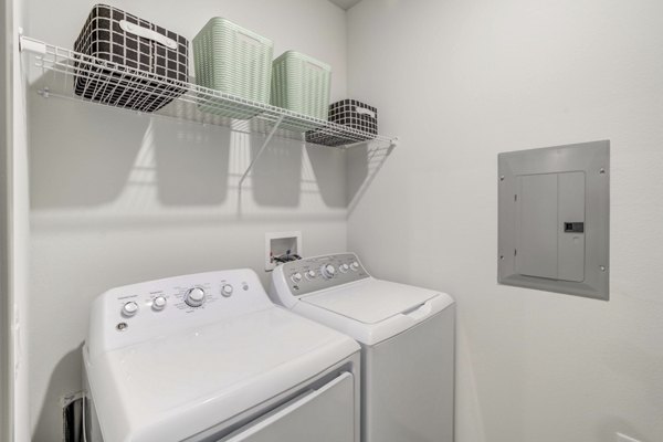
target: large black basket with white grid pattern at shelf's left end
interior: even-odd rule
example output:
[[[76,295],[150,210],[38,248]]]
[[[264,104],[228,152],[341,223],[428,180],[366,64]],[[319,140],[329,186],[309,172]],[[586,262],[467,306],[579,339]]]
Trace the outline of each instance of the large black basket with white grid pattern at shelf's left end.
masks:
[[[96,4],[74,44],[76,95],[154,112],[187,91],[189,42],[117,8]]]

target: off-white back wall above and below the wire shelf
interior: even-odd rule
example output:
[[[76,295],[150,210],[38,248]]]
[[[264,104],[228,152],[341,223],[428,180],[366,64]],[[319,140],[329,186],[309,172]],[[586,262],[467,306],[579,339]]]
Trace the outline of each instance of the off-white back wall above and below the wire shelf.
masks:
[[[31,0],[31,36],[71,48],[93,1]],[[116,0],[190,39],[214,15],[334,67],[346,94],[345,12],[326,0]],[[118,285],[252,267],[264,233],[301,230],[307,254],[346,246],[345,157],[276,141],[245,183],[263,138],[137,117],[31,93],[30,400],[35,441],[61,438],[60,398],[81,388],[91,301]]]

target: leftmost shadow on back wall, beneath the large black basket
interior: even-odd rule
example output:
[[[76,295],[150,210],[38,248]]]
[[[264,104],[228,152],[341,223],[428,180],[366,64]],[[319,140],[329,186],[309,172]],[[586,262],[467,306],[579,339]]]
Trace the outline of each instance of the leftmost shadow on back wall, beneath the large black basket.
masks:
[[[36,95],[30,110],[32,208],[98,206],[119,197],[149,119],[109,122],[88,105]]]

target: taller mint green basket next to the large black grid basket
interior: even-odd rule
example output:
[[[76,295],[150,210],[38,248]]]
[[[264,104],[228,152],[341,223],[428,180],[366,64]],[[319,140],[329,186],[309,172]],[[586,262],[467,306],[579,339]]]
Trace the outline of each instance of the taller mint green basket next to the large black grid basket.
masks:
[[[196,82],[239,98],[269,104],[272,55],[271,40],[215,17],[193,39]],[[200,108],[241,119],[259,114],[253,106],[221,99]]]

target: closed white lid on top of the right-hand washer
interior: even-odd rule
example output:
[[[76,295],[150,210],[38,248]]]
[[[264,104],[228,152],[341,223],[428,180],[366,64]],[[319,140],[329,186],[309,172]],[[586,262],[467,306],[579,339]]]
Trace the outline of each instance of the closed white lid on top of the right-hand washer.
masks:
[[[368,278],[303,296],[301,301],[364,324],[377,324],[417,309],[435,296],[436,292],[425,288]]]

